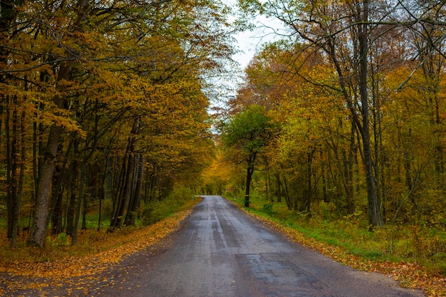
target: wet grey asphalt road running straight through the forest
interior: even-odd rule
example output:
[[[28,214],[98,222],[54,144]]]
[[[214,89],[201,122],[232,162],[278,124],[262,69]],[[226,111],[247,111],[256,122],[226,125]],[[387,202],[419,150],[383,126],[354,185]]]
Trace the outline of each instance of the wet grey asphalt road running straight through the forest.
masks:
[[[108,273],[112,284],[89,296],[423,296],[292,243],[217,196],[163,244]]]

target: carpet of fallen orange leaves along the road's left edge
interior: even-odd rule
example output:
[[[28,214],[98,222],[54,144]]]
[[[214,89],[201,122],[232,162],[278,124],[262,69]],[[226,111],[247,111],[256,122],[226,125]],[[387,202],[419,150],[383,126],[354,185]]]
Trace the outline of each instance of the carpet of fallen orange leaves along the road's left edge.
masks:
[[[84,256],[66,256],[41,262],[17,260],[7,263],[6,259],[2,259],[0,295],[18,290],[37,290],[41,296],[48,296],[48,290],[57,291],[64,288],[66,295],[70,296],[86,294],[98,283],[101,286],[113,284],[113,280],[99,274],[130,254],[157,244],[177,230],[191,212],[192,208],[178,212],[145,228],[123,232],[120,236],[104,234],[103,238],[94,244],[97,251]],[[31,250],[29,252],[32,253]]]

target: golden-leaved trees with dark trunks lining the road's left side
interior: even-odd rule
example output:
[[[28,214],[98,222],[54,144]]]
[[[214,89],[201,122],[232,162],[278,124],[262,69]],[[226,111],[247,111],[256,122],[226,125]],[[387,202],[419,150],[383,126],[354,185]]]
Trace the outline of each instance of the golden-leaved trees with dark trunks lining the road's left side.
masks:
[[[26,168],[22,148],[33,152],[29,244],[43,246],[51,217],[54,231],[65,229],[76,244],[81,214],[98,193],[121,192],[115,209],[133,224],[145,168],[165,167],[172,181],[196,159],[195,144],[209,143],[203,90],[206,78],[224,72],[233,53],[229,8],[218,1],[170,0],[14,5],[1,6],[1,89],[9,96],[2,97],[1,111],[21,115],[21,123],[9,119],[15,134],[7,143],[28,140],[21,132],[26,128],[33,132],[32,144],[9,146],[18,161],[11,165]],[[17,100],[9,105],[6,97]],[[1,124],[6,127],[3,118]],[[111,155],[122,158],[122,166],[110,165]],[[93,172],[101,166],[108,170]],[[10,172],[15,177],[9,180],[21,187],[24,170]],[[117,180],[123,182],[113,184]],[[13,214],[18,207],[8,202]],[[62,224],[63,204],[68,211]]]

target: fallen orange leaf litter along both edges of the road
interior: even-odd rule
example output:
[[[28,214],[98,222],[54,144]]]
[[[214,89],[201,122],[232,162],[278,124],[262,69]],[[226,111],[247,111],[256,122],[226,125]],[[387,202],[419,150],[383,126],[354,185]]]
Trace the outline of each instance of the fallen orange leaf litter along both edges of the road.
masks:
[[[0,261],[0,295],[8,296],[14,293],[14,296],[25,296],[19,295],[19,292],[28,291],[35,296],[88,296],[93,286],[114,286],[113,276],[107,277],[101,273],[119,264],[131,254],[159,243],[165,236],[176,231],[191,212],[192,209],[187,209],[160,222],[132,231],[131,239],[125,239],[124,244],[105,251],[85,256],[68,256],[53,261]],[[398,281],[402,287],[422,289],[427,296],[446,296],[446,278],[427,273],[420,264],[361,259],[346,253],[338,246],[323,244],[304,236],[296,229],[252,212],[247,214],[280,231],[292,241],[299,242],[353,269],[383,273]],[[63,293],[57,295],[59,292]]]

